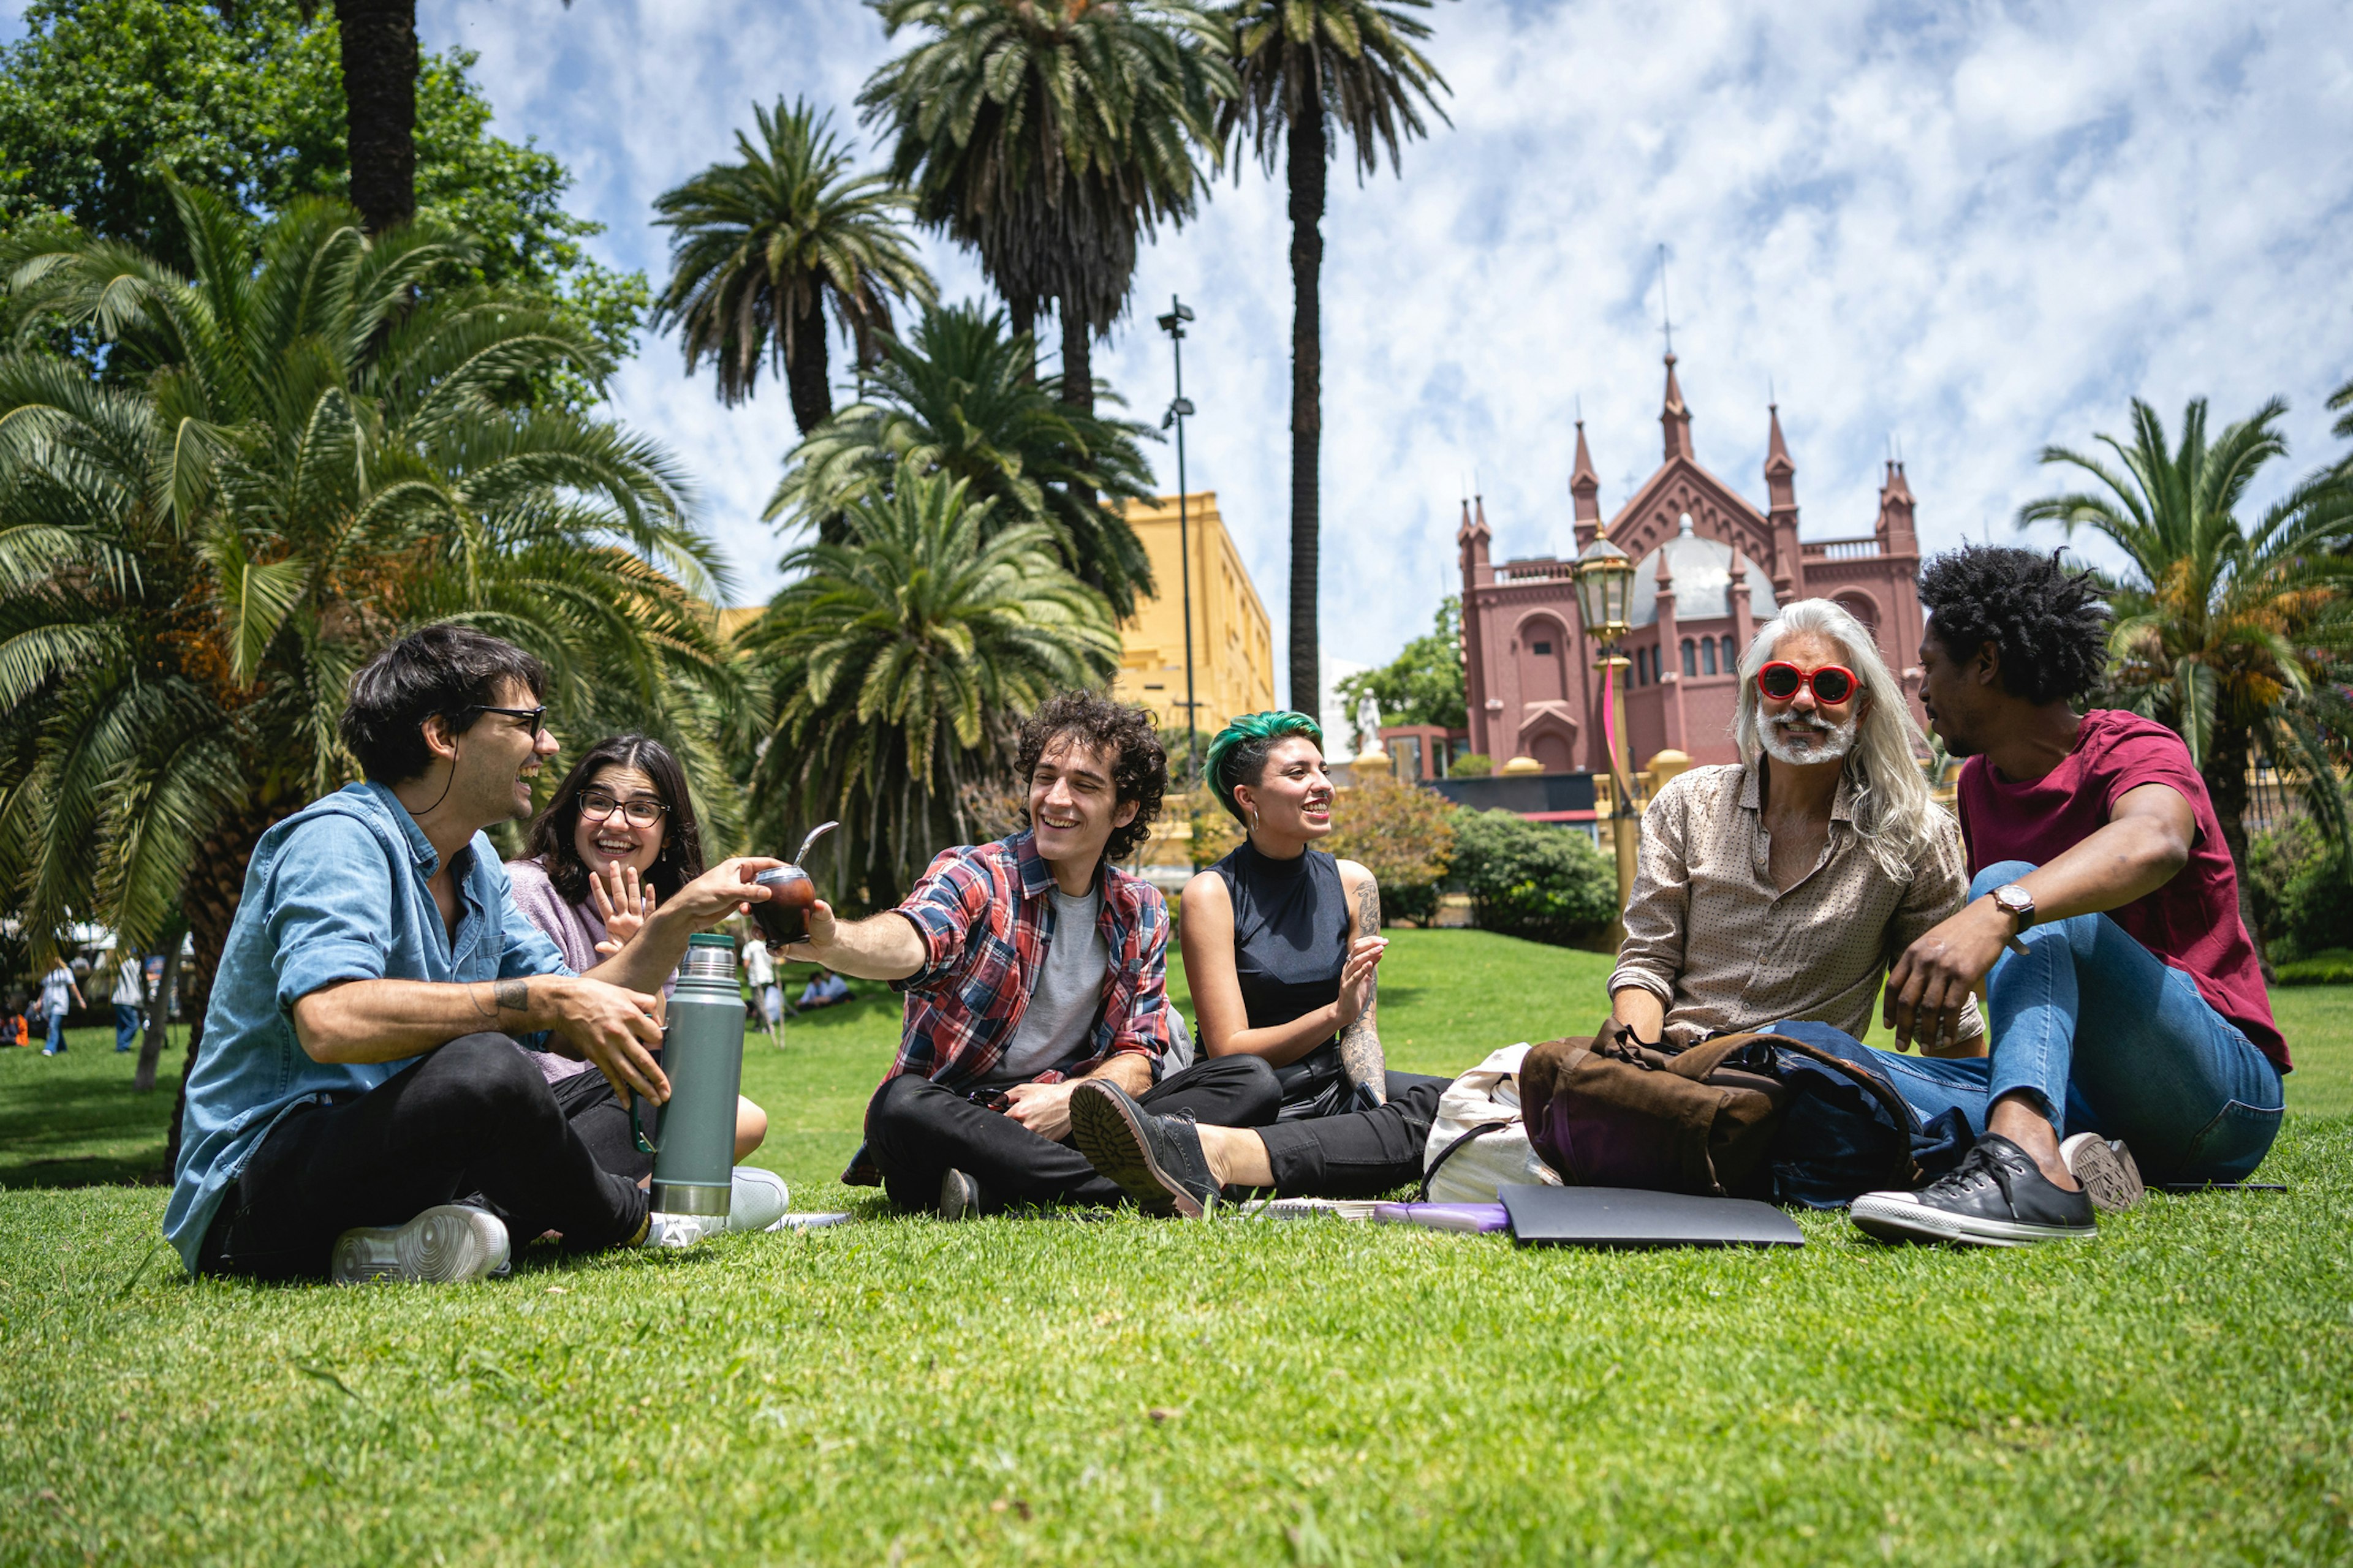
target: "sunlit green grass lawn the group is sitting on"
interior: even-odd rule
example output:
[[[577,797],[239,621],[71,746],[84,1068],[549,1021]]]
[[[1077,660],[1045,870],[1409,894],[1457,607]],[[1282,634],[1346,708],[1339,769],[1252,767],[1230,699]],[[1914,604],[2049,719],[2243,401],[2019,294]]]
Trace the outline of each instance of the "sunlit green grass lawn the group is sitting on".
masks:
[[[1602,1016],[1595,954],[1395,938],[1400,1067]],[[762,1161],[866,1222],[447,1291],[188,1281],[160,1190],[59,1190],[153,1166],[169,1088],[7,1051],[0,1563],[2346,1561],[2353,987],[2275,1006],[2287,1194],[1612,1255],[885,1218],[833,1185],[873,994],[746,1053]]]

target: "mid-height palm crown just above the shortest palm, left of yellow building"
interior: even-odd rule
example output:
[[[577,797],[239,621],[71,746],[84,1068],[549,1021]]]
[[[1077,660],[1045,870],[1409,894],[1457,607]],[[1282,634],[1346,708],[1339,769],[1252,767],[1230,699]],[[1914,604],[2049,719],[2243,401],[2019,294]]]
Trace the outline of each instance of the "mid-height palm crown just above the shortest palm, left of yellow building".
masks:
[[[840,541],[856,498],[887,494],[906,465],[962,480],[995,501],[991,527],[1035,522],[1061,564],[1104,592],[1125,621],[1153,592],[1153,567],[1127,522],[1094,494],[1151,496],[1144,425],[1061,402],[1061,378],[1031,378],[1033,350],[1005,336],[1005,315],[979,306],[922,313],[901,343],[882,339],[866,402],[812,430],[786,458],[767,517]],[[1108,397],[1108,393],[1106,393]]]

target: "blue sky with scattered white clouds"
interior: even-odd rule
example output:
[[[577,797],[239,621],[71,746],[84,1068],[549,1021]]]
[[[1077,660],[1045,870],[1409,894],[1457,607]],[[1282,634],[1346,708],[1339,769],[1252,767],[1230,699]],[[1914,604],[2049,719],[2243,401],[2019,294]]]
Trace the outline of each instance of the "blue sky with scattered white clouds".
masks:
[[[1781,400],[1807,536],[1866,531],[1899,444],[1929,545],[2009,536],[2045,442],[2122,430],[2132,395],[2235,418],[2285,395],[2294,468],[2353,376],[2353,7],[2191,0],[1440,0],[1449,127],[1402,176],[1334,176],[1325,219],[1325,646],[1386,658],[1454,581],[1478,484],[1499,555],[1569,545],[1581,404],[1602,505],[1659,461],[1666,247],[1699,458],[1762,498]],[[852,0],[419,0],[426,47],[480,54],[506,136],[534,136],[659,280],[652,197],[725,158],[755,101],[849,108],[889,52]],[[1162,235],[1096,371],[1169,395],[1151,315],[1200,313],[1188,477],[1219,491],[1282,646],[1289,275],[1257,167]],[[927,259],[976,294],[955,252]],[[701,477],[746,597],[793,425],[781,388],[720,409],[647,341],[626,418]],[[1160,451],[1162,484],[1174,456]],[[2285,473],[2280,475],[2287,477]]]

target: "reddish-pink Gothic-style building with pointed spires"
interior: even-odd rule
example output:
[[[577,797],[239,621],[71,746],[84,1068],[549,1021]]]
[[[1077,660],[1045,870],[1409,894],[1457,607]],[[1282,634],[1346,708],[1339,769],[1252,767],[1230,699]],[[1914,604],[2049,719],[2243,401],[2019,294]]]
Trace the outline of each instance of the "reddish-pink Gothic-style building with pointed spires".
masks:
[[[1666,451],[1659,470],[1602,522],[1600,480],[1577,421],[1577,548],[1607,531],[1635,557],[1633,632],[1626,637],[1626,750],[1645,766],[1661,750],[1692,762],[1737,762],[1732,745],[1734,668],[1777,604],[1835,599],[1873,630],[1880,656],[1915,684],[1920,644],[1920,541],[1904,465],[1889,463],[1871,534],[1798,538],[1798,465],[1781,440],[1781,411],[1767,407],[1765,508],[1699,465],[1692,411],[1666,355]],[[1574,562],[1553,557],[1489,562],[1487,508],[1464,508],[1464,668],[1471,750],[1534,757],[1548,773],[1605,771],[1598,649],[1577,614]]]

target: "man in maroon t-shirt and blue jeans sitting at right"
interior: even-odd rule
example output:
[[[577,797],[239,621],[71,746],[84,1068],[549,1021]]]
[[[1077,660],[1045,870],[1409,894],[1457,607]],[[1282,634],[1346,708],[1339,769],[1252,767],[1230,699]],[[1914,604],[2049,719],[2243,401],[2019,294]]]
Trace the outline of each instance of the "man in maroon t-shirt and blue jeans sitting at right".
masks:
[[[2106,668],[2108,616],[2057,555],[1965,545],[1920,574],[1929,726],[1960,769],[1969,903],[1887,976],[1897,1044],[1939,1039],[1984,980],[1993,1053],[1878,1060],[1922,1114],[1981,1138],[1922,1192],[1873,1192],[1885,1239],[2017,1246],[2085,1237],[2094,1208],[2167,1182],[2231,1182],[2280,1131],[2287,1041],[2238,875],[2181,738],[2073,698]]]

